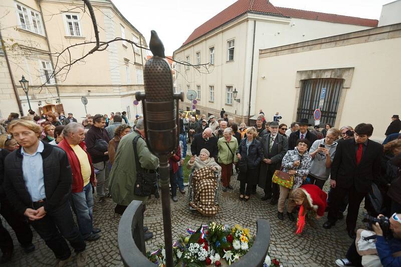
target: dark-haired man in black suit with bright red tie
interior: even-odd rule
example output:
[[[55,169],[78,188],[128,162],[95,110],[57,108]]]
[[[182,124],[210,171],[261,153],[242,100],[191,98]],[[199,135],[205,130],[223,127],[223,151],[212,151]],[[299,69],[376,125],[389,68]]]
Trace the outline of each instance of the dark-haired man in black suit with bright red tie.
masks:
[[[355,127],[354,139],[338,142],[331,164],[332,202],[327,214],[328,220],[323,227],[329,229],[335,224],[340,203],[348,195],[346,225],[351,238],[355,237],[359,205],[369,192],[372,181],[377,180],[380,175],[383,146],[369,139],[372,133],[371,124],[358,124]]]

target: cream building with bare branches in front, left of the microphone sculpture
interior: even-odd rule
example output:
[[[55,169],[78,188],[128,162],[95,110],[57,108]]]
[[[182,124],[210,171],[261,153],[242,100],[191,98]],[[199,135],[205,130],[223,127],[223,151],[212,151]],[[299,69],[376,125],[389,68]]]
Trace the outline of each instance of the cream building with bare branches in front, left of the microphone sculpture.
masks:
[[[147,47],[143,35],[111,1],[93,0],[91,4],[100,42],[123,38]],[[19,83],[22,76],[29,81],[28,96],[37,113],[64,111],[84,117],[82,96],[88,99],[86,108],[91,114],[125,110],[134,118],[142,113],[141,104],[134,106],[133,101],[134,93],[144,89],[145,49],[125,41],[112,42],[106,50],[69,67],[95,46],[92,20],[82,1],[5,0],[2,5],[6,8],[0,14],[1,116],[27,114],[27,97]],[[83,43],[87,44],[76,45]],[[60,69],[52,76],[53,70]]]

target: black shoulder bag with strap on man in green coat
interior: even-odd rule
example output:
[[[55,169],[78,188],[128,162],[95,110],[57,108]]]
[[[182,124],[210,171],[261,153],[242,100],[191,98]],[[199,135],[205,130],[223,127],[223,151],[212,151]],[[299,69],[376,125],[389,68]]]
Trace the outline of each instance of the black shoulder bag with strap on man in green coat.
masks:
[[[134,146],[135,156],[135,169],[136,169],[136,181],[134,184],[134,194],[137,196],[150,196],[157,190],[157,178],[158,174],[154,170],[145,170],[142,168],[138,160],[138,152],[136,149],[136,143],[140,136],[135,136],[132,140]]]

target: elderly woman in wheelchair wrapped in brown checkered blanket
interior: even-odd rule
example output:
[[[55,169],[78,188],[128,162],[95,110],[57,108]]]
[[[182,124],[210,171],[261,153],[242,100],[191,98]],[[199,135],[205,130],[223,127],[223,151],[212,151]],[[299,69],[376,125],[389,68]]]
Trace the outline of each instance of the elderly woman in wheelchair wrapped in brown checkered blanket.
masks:
[[[192,169],[188,181],[188,199],[191,210],[205,216],[216,215],[219,194],[219,177],[222,167],[210,158],[207,149],[200,150],[199,156],[192,156],[187,168]]]

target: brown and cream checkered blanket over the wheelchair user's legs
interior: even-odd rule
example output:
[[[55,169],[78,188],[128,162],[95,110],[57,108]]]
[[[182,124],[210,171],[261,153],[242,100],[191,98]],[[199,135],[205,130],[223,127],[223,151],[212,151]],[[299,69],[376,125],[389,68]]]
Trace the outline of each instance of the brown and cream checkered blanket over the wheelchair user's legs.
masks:
[[[219,210],[219,206],[215,205],[216,187],[217,181],[210,167],[194,171],[192,176],[193,199],[189,205],[205,216],[215,216]]]

